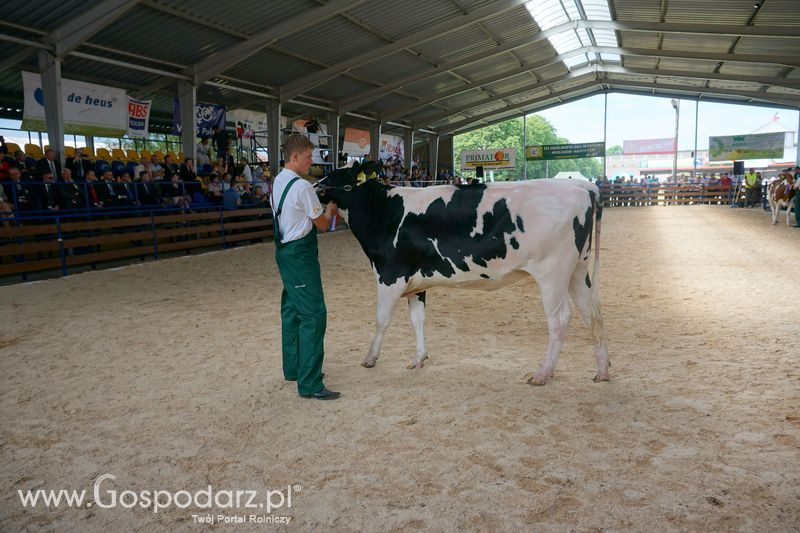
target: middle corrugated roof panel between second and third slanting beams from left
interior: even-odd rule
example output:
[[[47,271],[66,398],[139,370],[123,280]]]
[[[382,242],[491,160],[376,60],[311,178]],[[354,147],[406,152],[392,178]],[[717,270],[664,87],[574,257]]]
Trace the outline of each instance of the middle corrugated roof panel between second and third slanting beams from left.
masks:
[[[291,52],[333,65],[385,45],[387,41],[342,17],[336,17],[309,28],[302,36],[292,35],[277,44]]]

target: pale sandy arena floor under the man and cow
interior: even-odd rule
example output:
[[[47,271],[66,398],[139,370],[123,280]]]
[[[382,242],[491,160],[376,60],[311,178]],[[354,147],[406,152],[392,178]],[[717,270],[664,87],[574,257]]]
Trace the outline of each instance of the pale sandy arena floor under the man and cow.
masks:
[[[298,531],[797,531],[800,230],[726,207],[608,209],[612,381],[572,320],[555,378],[531,281],[428,293],[406,370],[398,305],[378,365],[375,288],[349,232],[320,255],[326,384],[280,371],[279,279],[256,245],[0,288],[0,529],[263,531],[206,511],[23,508],[18,490],[286,490]],[[265,514],[212,509],[229,516]]]

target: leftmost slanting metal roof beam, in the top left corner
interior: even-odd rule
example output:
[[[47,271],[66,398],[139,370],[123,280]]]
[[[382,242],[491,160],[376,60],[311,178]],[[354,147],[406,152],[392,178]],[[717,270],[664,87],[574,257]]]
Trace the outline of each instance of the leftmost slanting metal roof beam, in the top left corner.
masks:
[[[133,8],[138,1],[104,0],[88,11],[68,19],[53,32],[42,37],[42,42],[52,45],[55,56],[61,59]]]

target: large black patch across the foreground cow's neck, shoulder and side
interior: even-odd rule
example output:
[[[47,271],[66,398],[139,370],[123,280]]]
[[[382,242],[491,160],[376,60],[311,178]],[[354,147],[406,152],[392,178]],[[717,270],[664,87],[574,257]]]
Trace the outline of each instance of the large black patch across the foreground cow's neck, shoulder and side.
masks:
[[[333,199],[349,211],[350,227],[379,282],[392,285],[415,274],[431,277],[438,273],[449,278],[457,271],[467,272],[470,257],[482,267],[492,259],[506,257],[506,234],[517,228],[505,200],[497,201],[482,215],[482,233],[471,235],[485,189],[457,187],[449,202],[437,199],[424,213],[409,213],[405,219],[403,198],[389,196],[390,188],[375,181],[349,192],[337,191]]]

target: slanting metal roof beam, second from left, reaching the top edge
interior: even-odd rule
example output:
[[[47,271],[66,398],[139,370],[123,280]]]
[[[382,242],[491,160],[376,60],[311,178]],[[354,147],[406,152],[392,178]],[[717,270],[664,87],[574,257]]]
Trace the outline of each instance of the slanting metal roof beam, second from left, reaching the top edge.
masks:
[[[210,80],[215,75],[244,61],[274,42],[310,28],[311,26],[315,26],[326,19],[338,15],[342,11],[347,11],[348,9],[363,4],[365,1],[366,0],[331,0],[323,6],[302,11],[298,15],[270,26],[267,30],[250,37],[246,41],[217,52],[211,57],[190,67],[195,84],[199,85]],[[288,100],[288,98],[286,100]]]

